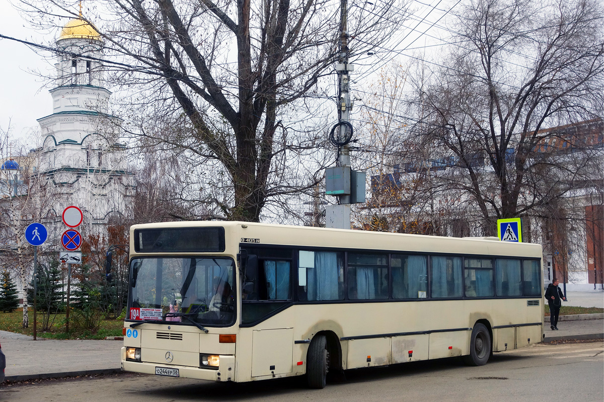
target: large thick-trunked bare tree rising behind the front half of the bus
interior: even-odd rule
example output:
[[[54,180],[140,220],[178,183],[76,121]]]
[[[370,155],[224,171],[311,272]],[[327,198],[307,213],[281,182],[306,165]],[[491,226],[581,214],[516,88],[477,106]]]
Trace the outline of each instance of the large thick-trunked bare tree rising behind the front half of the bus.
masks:
[[[77,17],[71,2],[23,3]],[[353,57],[399,30],[405,7],[350,7]],[[315,183],[295,181],[289,158],[311,153],[306,121],[332,92],[323,84],[338,57],[339,2],[116,0],[94,12],[82,19],[96,23],[107,58],[120,61],[106,63],[111,80],[130,87],[133,111],[144,113],[132,133],[214,164],[228,183],[229,196],[218,199],[226,218],[258,221],[267,203],[310,191]],[[153,130],[158,122],[164,130]]]

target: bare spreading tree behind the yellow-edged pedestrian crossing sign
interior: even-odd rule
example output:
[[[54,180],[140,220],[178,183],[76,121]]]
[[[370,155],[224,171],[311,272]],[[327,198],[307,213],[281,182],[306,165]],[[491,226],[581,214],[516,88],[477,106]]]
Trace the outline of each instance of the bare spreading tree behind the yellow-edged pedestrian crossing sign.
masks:
[[[470,0],[455,25],[461,45],[416,86],[413,104],[425,113],[414,130],[452,155],[449,187],[486,227],[547,215],[543,207],[591,171],[593,152],[539,147],[561,137],[545,128],[602,119],[602,12],[593,0]]]

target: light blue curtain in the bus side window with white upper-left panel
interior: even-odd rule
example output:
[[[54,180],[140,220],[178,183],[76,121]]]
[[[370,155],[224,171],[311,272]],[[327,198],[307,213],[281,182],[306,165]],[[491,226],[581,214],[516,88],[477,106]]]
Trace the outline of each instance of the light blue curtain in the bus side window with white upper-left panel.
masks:
[[[338,255],[316,252],[315,268],[307,269],[308,300],[338,300]]]

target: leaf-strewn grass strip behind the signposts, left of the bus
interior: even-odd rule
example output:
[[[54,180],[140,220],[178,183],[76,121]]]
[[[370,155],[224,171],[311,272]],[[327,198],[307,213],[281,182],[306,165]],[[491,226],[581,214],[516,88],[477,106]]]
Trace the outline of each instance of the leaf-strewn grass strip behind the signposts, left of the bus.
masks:
[[[23,309],[15,310],[12,313],[0,313],[0,330],[16,332],[20,334],[34,334],[34,312],[33,309],[28,309],[30,326],[23,328]],[[101,321],[101,326],[97,333],[92,334],[88,331],[72,330],[71,312],[69,313],[69,333],[65,333],[65,313],[57,314],[54,319],[54,325],[48,331],[42,331],[42,316],[37,315],[37,336],[39,338],[48,339],[104,339],[106,336],[122,336],[122,328],[124,327],[123,320],[104,319]]]

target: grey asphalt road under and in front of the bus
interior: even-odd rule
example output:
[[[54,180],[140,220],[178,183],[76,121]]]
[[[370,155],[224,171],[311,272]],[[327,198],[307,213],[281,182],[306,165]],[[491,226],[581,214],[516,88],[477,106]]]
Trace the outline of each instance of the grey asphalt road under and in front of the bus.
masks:
[[[604,343],[533,345],[497,353],[483,367],[460,360],[352,370],[345,382],[306,389],[303,378],[212,383],[120,374],[0,388],[21,401],[582,401],[604,400]]]

